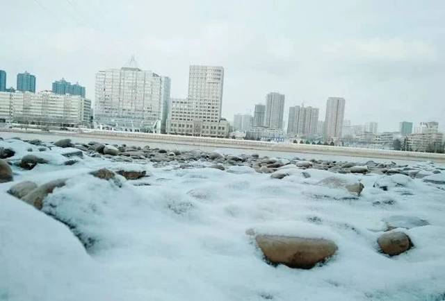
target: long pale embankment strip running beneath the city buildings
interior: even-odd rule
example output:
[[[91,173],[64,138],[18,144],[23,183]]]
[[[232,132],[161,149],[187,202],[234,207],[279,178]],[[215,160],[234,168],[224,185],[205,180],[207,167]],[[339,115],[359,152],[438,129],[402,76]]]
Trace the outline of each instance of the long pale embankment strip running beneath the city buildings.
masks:
[[[179,135],[161,135],[152,133],[136,133],[136,132],[116,132],[105,130],[91,130],[88,132],[67,132],[52,131],[42,132],[40,130],[17,130],[17,129],[1,129],[0,135],[4,133],[20,133],[43,135],[47,137],[76,137],[85,139],[105,139],[108,143],[113,141],[127,141],[140,143],[158,143],[158,144],[174,144],[175,146],[193,146],[193,148],[210,147],[210,148],[238,148],[243,150],[266,150],[280,153],[302,153],[302,154],[318,154],[318,155],[334,155],[344,157],[359,158],[379,158],[387,160],[409,160],[409,161],[432,161],[437,163],[445,163],[445,154],[437,153],[416,153],[401,150],[380,150],[369,148],[349,148],[342,146],[323,146],[312,144],[279,144],[267,141],[250,141],[236,139],[220,139],[209,137],[190,137]]]

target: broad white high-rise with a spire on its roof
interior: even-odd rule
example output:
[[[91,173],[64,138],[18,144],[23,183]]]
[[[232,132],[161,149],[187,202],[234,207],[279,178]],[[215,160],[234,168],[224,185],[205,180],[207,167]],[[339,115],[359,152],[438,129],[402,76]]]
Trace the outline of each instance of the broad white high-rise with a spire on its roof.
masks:
[[[137,67],[96,74],[95,122],[99,128],[163,132],[170,78]]]

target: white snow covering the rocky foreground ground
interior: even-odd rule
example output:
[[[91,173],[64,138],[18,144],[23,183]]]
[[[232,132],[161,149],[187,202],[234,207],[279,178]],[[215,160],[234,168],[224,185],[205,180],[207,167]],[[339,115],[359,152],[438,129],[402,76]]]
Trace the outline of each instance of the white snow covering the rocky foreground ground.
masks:
[[[84,155],[65,166],[70,149],[38,152],[8,139],[0,147],[15,150],[8,160],[31,147],[49,161],[31,171],[13,166],[14,182],[0,184],[2,301],[445,300],[444,166],[412,162],[423,179],[291,168],[278,180],[248,166],[220,171],[197,162],[179,168]],[[102,167],[148,176],[88,174]],[[360,180],[362,195],[318,184],[330,176]],[[60,178],[67,184],[42,211],[6,193],[23,180]],[[394,219],[410,228],[400,230],[414,247],[388,257],[376,240]],[[428,225],[414,225],[419,219]],[[339,249],[311,270],[271,266],[248,229],[331,239]]]

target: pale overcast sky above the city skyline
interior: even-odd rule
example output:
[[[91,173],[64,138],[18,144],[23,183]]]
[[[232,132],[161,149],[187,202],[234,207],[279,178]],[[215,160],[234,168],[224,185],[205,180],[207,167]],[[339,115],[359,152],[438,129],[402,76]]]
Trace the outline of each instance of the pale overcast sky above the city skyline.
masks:
[[[65,78],[95,98],[95,74],[134,55],[186,97],[189,65],[225,68],[223,117],[253,113],[268,92],[291,105],[346,99],[345,119],[445,130],[443,0],[3,0],[0,69],[38,90]]]

